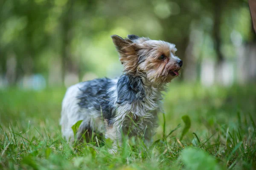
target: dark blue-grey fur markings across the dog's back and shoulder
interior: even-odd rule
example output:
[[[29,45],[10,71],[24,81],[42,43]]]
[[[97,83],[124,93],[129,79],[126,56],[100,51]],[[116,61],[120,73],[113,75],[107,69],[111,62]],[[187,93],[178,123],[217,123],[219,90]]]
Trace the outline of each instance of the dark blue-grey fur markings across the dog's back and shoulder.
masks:
[[[108,90],[115,85],[113,81],[102,78],[83,83],[83,87],[80,88],[82,93],[77,96],[77,99],[79,99],[78,105],[81,108],[94,108],[97,111],[102,111],[103,118],[107,120],[108,124],[112,124],[116,105],[111,94],[108,94]],[[116,103],[119,105],[131,104],[139,100],[143,101],[145,97],[142,79],[131,75],[122,75],[119,78],[116,91]]]

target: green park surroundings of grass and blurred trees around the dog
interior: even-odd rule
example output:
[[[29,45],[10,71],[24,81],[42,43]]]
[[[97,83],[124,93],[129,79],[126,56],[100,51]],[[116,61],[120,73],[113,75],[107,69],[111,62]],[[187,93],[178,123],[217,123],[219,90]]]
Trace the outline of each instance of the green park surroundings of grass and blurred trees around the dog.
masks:
[[[134,143],[113,156],[62,138],[66,89],[122,74],[112,34],[174,43],[183,60],[164,93],[152,154]],[[247,0],[0,0],[0,169],[252,170],[255,122]],[[203,151],[180,159],[188,146]]]

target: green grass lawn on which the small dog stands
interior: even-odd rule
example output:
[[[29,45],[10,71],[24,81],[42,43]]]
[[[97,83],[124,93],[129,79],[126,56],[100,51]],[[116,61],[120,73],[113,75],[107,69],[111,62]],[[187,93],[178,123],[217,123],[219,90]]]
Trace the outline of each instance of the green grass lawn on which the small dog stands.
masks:
[[[0,91],[0,169],[256,169],[256,88],[171,84],[154,143],[70,144],[58,125],[65,89]],[[103,144],[102,144],[103,143]]]

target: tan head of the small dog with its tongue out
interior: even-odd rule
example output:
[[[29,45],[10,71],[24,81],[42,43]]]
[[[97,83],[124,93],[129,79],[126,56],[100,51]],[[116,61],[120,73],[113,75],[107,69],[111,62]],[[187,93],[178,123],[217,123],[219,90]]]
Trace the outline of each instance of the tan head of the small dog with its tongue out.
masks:
[[[170,82],[179,75],[182,60],[175,56],[175,45],[161,40],[128,35],[111,36],[119,52],[125,74],[145,75],[152,84]]]

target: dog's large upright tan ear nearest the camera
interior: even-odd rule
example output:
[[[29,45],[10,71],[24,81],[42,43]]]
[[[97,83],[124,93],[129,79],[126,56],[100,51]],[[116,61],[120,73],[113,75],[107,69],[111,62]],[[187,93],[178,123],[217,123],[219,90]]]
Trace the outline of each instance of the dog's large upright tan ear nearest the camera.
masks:
[[[138,45],[128,38],[123,39],[118,35],[112,35],[111,38],[116,46],[116,50],[119,52],[119,60],[124,66],[124,72],[135,74],[138,64]]]

